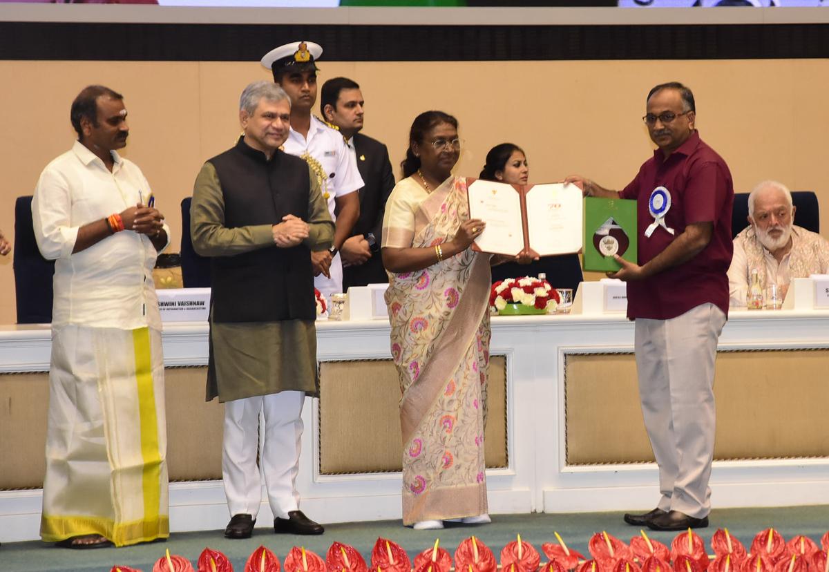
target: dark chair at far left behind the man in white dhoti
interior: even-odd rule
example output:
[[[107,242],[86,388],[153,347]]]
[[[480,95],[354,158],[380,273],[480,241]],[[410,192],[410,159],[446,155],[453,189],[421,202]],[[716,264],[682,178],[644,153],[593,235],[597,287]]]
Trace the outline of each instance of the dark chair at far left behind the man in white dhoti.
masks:
[[[41,256],[32,227],[32,196],[14,204],[14,291],[17,323],[51,323],[52,277],[55,261]]]

